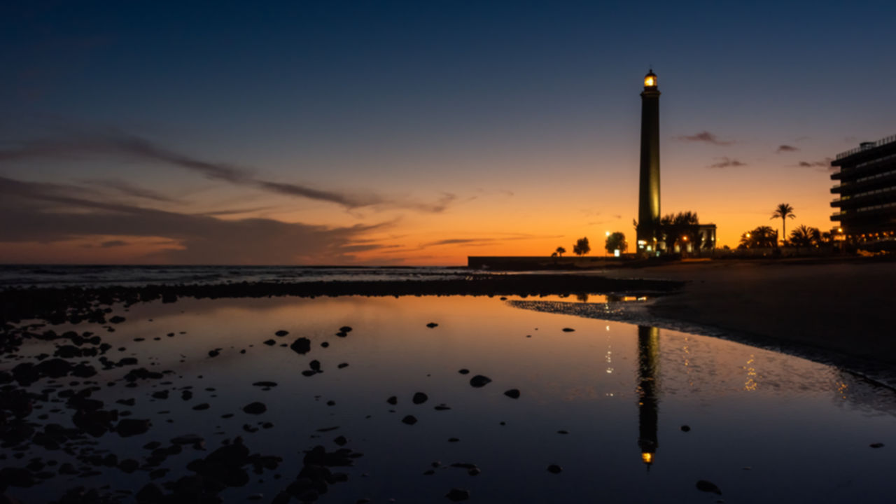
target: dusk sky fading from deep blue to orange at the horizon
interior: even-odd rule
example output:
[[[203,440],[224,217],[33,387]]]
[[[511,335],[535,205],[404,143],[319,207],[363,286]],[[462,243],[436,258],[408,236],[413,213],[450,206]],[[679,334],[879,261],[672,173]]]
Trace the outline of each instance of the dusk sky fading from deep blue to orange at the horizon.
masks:
[[[6,2],[0,263],[465,265],[830,230],[837,153],[896,134],[892,2]]]

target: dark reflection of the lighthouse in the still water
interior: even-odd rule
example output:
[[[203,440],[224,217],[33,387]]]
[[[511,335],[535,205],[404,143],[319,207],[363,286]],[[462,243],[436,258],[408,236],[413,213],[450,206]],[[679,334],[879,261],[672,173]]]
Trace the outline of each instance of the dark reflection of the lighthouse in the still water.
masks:
[[[641,460],[650,467],[659,440],[659,328],[638,326],[638,447]]]

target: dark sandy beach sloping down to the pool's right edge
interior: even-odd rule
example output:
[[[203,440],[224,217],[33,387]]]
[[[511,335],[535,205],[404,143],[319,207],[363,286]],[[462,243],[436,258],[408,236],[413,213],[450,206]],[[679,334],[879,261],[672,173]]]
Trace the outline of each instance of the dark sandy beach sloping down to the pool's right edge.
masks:
[[[761,344],[896,364],[896,262],[712,261],[607,272],[685,281],[651,315]]]

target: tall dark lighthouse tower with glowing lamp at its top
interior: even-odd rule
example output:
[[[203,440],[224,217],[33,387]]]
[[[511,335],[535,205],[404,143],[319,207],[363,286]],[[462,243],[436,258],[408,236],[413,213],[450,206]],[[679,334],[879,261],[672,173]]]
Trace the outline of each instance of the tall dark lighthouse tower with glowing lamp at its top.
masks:
[[[641,182],[638,190],[639,253],[656,252],[659,231],[659,89],[651,68],[641,91]]]

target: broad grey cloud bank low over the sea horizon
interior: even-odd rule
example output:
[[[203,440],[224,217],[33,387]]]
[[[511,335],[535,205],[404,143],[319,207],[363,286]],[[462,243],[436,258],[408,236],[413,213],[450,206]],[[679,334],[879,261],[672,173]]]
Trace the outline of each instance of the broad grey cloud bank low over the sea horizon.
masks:
[[[354,254],[382,248],[356,242],[387,224],[328,227],[271,219],[221,220],[206,215],[166,212],[82,197],[78,187],[24,182],[0,177],[0,242],[54,243],[103,239],[103,248],[125,239],[168,240],[143,259],[170,264],[321,264],[348,263]],[[237,238],[238,237],[238,238]]]

